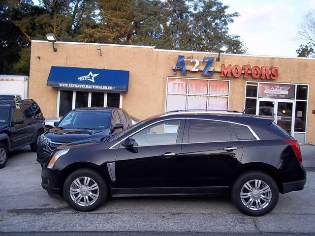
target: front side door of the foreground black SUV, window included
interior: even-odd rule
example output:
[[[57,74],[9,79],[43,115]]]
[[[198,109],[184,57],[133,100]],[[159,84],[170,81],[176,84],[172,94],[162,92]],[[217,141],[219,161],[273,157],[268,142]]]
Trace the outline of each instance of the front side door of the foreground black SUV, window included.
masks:
[[[116,186],[128,193],[180,193],[178,157],[185,119],[155,122],[134,133],[133,148],[120,145],[116,156]]]

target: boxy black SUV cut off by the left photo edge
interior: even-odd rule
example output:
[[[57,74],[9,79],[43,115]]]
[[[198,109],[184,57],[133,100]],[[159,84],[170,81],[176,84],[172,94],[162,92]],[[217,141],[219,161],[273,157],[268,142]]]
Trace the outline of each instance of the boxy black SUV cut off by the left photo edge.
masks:
[[[0,101],[0,168],[10,151],[27,145],[36,151],[37,138],[44,130],[43,114],[32,99]]]

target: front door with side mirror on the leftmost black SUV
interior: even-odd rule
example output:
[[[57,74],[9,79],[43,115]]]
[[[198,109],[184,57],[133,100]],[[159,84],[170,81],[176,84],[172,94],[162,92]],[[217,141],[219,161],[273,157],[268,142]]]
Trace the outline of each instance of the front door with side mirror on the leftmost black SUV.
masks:
[[[27,133],[28,128],[26,127],[25,119],[20,107],[13,107],[13,118],[12,118],[12,126],[10,132],[10,141],[11,141],[11,148],[16,148],[27,143]],[[24,123],[16,124],[15,121],[17,119],[23,119]]]

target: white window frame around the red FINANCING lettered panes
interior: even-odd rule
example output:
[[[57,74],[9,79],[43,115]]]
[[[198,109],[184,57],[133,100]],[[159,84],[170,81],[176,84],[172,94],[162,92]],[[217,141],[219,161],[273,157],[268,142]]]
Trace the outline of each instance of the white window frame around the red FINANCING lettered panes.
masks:
[[[187,90],[186,93],[174,93],[174,92],[168,92],[168,79],[187,79]],[[207,80],[208,81],[208,88],[207,88],[207,94],[193,94],[189,93],[189,80]],[[211,81],[227,81],[228,82],[228,94],[227,95],[210,95],[209,94],[209,87],[210,87],[210,82]],[[165,92],[165,109],[167,109],[167,95],[185,95],[186,96],[186,104],[185,104],[185,109],[188,109],[188,97],[189,96],[204,96],[207,98],[207,103],[206,103],[206,108],[205,110],[208,110],[208,105],[209,105],[209,97],[227,97],[227,109],[229,110],[229,102],[230,102],[230,88],[231,88],[231,81],[230,80],[221,80],[221,79],[206,79],[206,78],[194,78],[194,77],[177,77],[177,76],[167,76],[166,77],[166,92]]]

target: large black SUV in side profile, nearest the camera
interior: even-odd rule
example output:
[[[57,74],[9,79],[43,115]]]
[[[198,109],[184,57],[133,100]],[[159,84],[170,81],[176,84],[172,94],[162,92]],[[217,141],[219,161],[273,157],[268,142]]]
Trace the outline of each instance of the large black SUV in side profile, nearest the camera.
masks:
[[[42,169],[42,187],[80,211],[108,195],[230,194],[242,212],[260,216],[279,192],[305,182],[298,142],[273,119],[238,112],[165,113],[99,141],[61,146]]]

